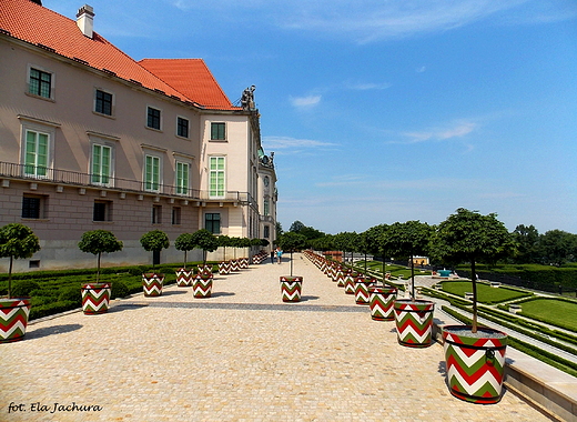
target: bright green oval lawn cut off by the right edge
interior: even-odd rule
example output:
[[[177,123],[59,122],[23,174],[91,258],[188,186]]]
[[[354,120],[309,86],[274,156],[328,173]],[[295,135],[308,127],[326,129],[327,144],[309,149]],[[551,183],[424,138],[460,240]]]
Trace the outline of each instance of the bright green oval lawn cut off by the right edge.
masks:
[[[577,332],[577,303],[535,299],[520,303],[523,314]]]

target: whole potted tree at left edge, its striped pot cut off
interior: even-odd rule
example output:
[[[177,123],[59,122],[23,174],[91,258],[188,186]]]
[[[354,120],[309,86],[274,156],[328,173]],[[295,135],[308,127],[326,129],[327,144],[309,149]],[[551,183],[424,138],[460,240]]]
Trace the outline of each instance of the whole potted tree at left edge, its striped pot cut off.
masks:
[[[8,298],[0,299],[0,343],[22,340],[28,326],[30,298],[12,298],[12,263],[14,259],[32,257],[40,250],[40,241],[32,229],[11,223],[0,229],[0,258],[10,258]]]

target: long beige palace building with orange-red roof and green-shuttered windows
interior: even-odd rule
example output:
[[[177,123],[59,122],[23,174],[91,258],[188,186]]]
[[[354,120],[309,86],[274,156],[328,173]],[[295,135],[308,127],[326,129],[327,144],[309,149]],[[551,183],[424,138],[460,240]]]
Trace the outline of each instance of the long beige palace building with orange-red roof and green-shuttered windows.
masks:
[[[124,243],[114,265],[151,263],[139,240],[154,229],[274,242],[254,87],[234,105],[203,60],[136,62],[94,31],[91,7],[74,21],[30,0],[2,0],[0,74],[0,225],[29,225],[42,247],[16,271],[93,267],[78,242],[97,229]]]

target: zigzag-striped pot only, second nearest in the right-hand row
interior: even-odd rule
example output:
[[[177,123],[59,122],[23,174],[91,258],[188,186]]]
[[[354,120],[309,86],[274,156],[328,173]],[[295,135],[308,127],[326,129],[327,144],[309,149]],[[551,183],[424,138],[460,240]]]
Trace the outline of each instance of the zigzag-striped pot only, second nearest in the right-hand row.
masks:
[[[398,343],[409,348],[429,346],[435,303],[426,300],[397,299],[394,309]]]

